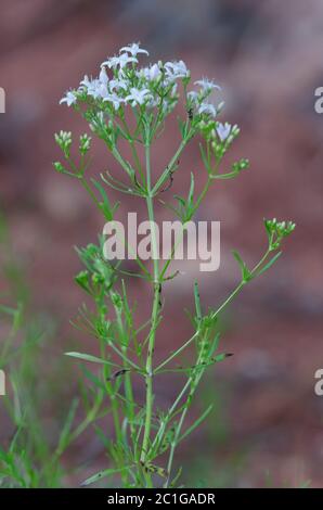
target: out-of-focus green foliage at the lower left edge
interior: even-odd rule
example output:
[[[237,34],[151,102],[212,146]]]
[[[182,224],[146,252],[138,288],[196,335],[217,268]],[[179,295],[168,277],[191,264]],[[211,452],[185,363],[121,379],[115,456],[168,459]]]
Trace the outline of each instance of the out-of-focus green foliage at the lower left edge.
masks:
[[[79,399],[67,404],[57,418],[56,439],[48,431],[44,403],[52,399],[51,378],[44,377],[44,344],[54,336],[50,317],[35,314],[24,268],[12,250],[3,215],[0,214],[1,275],[5,291],[0,295],[0,370],[5,374],[5,395],[0,397],[0,487],[64,486],[67,469],[62,456],[67,447],[98,418],[95,392],[82,394],[90,407],[76,424]],[[12,305],[12,303],[16,303]],[[60,364],[62,365],[62,364]],[[54,371],[53,378],[60,373]],[[67,378],[64,374],[66,384]],[[41,383],[40,383],[41,381]],[[57,390],[57,383],[55,382]],[[66,386],[62,387],[66,393]],[[60,413],[61,413],[60,409]],[[56,441],[56,444],[55,444]]]

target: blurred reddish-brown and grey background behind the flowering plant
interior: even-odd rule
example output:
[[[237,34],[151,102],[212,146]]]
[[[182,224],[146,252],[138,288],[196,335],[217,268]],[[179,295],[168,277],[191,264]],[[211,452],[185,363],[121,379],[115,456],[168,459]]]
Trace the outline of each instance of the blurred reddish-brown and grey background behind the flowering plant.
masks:
[[[82,76],[128,42],[140,41],[150,60],[182,59],[194,79],[214,78],[223,88],[222,119],[242,129],[232,157],[248,157],[250,169],[219,182],[198,219],[221,220],[221,267],[185,276],[165,288],[164,334],[157,358],[190,334],[183,306],[193,306],[198,278],[205,306],[217,306],[238,279],[231,250],[256,263],[266,246],[263,217],[296,221],[277,264],[244,290],[222,320],[221,349],[234,353],[212,369],[193,409],[215,403],[210,418],[180,449],[188,485],[323,486],[323,397],[314,395],[314,372],[323,368],[323,116],[314,90],[323,86],[323,5],[320,0],[2,0],[0,86],[7,113],[0,115],[0,209],[3,216],[0,279],[2,301],[10,289],[28,299],[50,337],[33,364],[33,392],[41,403],[49,441],[78,386],[65,350],[95,353],[93,341],[69,324],[83,295],[73,278],[80,269],[74,245],[95,241],[102,219],[77,182],[54,173],[59,129],[87,130],[59,100]],[[175,128],[165,131],[154,163],[172,150]],[[115,168],[95,144],[94,173]],[[196,145],[186,151],[168,192],[197,184]],[[118,199],[114,195],[114,199]],[[120,215],[129,204],[122,199]],[[159,218],[163,209],[158,212]],[[10,240],[9,240],[10,238]],[[10,246],[10,247],[9,247]],[[131,294],[148,314],[150,294],[135,279]],[[28,296],[28,297],[26,297]],[[7,331],[0,322],[0,342]],[[34,371],[33,371],[34,370]],[[171,401],[173,378],[158,383]],[[1,401],[0,401],[1,406]],[[1,407],[0,407],[1,413]],[[2,419],[0,442],[12,434]],[[179,459],[178,459],[179,460]],[[103,446],[85,435],[64,457],[67,467],[104,467]],[[69,474],[64,483],[85,477]]]

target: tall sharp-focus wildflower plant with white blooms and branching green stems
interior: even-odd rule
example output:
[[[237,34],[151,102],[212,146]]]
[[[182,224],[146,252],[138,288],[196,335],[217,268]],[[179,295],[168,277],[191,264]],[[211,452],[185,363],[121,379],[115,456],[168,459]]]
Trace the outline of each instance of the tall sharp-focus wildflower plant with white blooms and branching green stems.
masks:
[[[68,90],[61,103],[66,103],[88,123],[91,137],[98,137],[119,165],[120,174],[101,174],[90,179],[91,137],[79,139],[79,160],[70,156],[73,136],[61,131],[55,135],[64,162],[54,163],[54,168],[80,182],[89,193],[105,221],[113,221],[118,204],[112,204],[106,189],[137,196],[146,205],[147,218],[154,226],[155,205],[162,202],[181,221],[183,230],[199,208],[209,188],[218,179],[231,179],[248,168],[242,158],[232,167],[221,170],[221,163],[240,129],[218,119],[223,104],[215,103],[219,86],[208,78],[195,81],[183,61],[157,62],[143,67],[139,58],[147,51],[132,43],[120,49],[119,54],[101,64],[99,76],[85,76],[78,88]],[[163,133],[165,122],[175,110],[184,106],[184,114],[177,118],[180,143],[169,163],[153,178],[151,151]],[[183,107],[182,107],[183,110]],[[175,118],[176,115],[173,114]],[[203,190],[196,193],[194,175],[191,175],[186,197],[175,196],[175,204],[160,200],[178,173],[179,158],[186,145],[197,140],[202,165],[206,170]],[[131,161],[125,157],[120,142],[131,149]],[[143,148],[143,149],[141,149]],[[144,157],[142,156],[144,153]],[[163,193],[163,197],[165,194]],[[103,239],[98,245],[89,244],[78,251],[85,266],[76,282],[93,299],[93,307],[80,308],[75,326],[98,340],[98,355],[66,353],[82,361],[98,364],[100,375],[85,371],[93,386],[94,407],[100,412],[111,412],[114,434],[106,435],[99,425],[112,467],[93,474],[85,481],[91,484],[107,475],[118,475],[126,487],[175,487],[181,471],[175,471],[173,460],[178,445],[185,439],[207,417],[211,408],[190,425],[186,415],[206,370],[223,361],[229,355],[219,352],[218,318],[233,297],[254,278],[267,271],[281,254],[282,241],[294,230],[292,222],[264,220],[268,246],[260,260],[249,268],[237,252],[233,255],[241,269],[241,281],[224,302],[215,309],[205,310],[199,297],[197,282],[194,283],[194,311],[191,316],[192,335],[177,349],[156,365],[155,347],[158,347],[159,330],[163,329],[164,285],[178,273],[171,273],[172,255],[163,264],[157,257],[156,232],[152,227],[152,268],[150,263],[135,258],[138,272],[125,270],[121,262],[111,263],[103,256]],[[173,254],[173,252],[172,252]],[[152,290],[152,309],[147,320],[137,323],[135,305],[129,302],[127,279],[139,277],[146,280]],[[171,284],[171,281],[170,283]],[[194,348],[194,362],[183,366],[180,361],[189,347]],[[182,390],[168,409],[156,407],[154,381],[168,372],[185,377]],[[133,380],[142,381],[145,400],[138,401]],[[107,404],[108,400],[108,404]]]

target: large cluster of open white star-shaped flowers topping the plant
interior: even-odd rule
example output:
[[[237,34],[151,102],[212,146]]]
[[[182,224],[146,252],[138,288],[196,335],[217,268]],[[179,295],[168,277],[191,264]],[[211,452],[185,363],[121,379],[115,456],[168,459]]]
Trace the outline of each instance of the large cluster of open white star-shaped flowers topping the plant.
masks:
[[[126,46],[102,62],[96,78],[85,76],[79,87],[68,90],[60,103],[77,106],[81,103],[100,103],[100,110],[114,115],[122,115],[126,105],[140,109],[158,109],[162,116],[170,113],[179,99],[178,85],[185,89],[186,107],[198,116],[216,117],[218,107],[208,102],[214,90],[220,87],[203,78],[195,81],[198,90],[188,91],[191,73],[183,61],[157,62],[139,67],[138,56],[148,55],[139,43]],[[104,107],[106,106],[106,109]],[[225,132],[224,132],[225,135]]]

